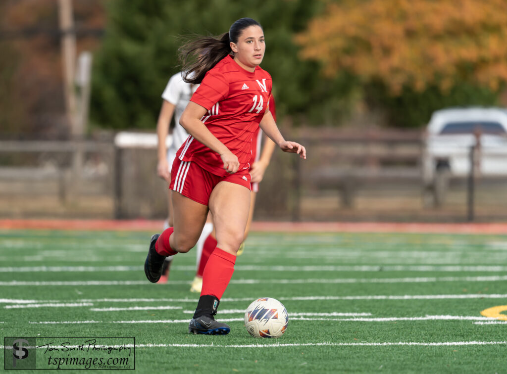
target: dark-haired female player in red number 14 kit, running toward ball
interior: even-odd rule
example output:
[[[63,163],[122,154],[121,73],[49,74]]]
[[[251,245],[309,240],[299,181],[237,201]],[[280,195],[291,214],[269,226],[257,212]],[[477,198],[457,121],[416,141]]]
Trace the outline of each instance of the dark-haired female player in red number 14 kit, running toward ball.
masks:
[[[204,49],[207,53],[199,56]],[[220,39],[202,37],[181,50],[185,80],[201,85],[179,120],[190,136],[172,167],[174,227],[152,236],[144,273],[157,282],[164,258],[188,252],[211,211],[217,246],[204,269],[201,296],[189,324],[189,332],[196,334],[230,331],[213,316],[243,241],[250,208],[251,142],[261,120],[264,133],[282,151],[306,159],[305,147],[286,141],[266,111],[272,81],[259,66],[264,52],[263,29],[251,18],[234,22]],[[185,66],[189,56],[196,60]]]

